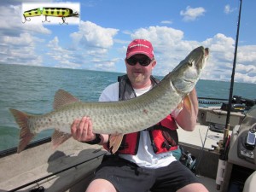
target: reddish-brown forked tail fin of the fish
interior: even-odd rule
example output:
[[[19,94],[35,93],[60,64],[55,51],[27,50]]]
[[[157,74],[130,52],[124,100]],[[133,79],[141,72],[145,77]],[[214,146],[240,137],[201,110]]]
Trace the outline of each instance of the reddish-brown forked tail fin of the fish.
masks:
[[[17,150],[17,153],[19,154],[35,136],[35,134],[30,131],[28,124],[28,119],[31,115],[13,108],[10,108],[9,110],[14,115],[16,123],[20,126],[20,143]]]

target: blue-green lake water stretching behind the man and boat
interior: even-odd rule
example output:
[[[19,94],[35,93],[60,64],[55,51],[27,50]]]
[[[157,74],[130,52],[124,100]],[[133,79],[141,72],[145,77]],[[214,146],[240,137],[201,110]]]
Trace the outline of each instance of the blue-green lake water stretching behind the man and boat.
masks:
[[[9,108],[48,113],[52,110],[55,91],[59,89],[67,90],[81,101],[95,102],[102,90],[116,82],[121,74],[0,64],[0,151],[16,147],[19,142],[18,125]],[[196,90],[199,97],[228,99],[230,83],[200,80]],[[233,95],[256,99],[256,84],[236,83]],[[51,132],[43,131],[35,139],[49,137]]]

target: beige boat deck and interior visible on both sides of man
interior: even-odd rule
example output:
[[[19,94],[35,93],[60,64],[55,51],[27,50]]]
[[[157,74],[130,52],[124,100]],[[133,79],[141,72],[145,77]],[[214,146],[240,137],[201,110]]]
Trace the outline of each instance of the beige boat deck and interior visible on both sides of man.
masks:
[[[199,119],[195,131],[183,131],[181,128],[177,130],[179,143],[185,151],[195,155],[198,164],[196,175],[201,183],[209,191],[217,192],[215,178],[218,152],[214,148],[218,148],[218,141],[223,139],[223,133],[211,131],[208,121],[223,121],[224,115],[216,113],[215,109],[212,113],[211,108],[201,110],[199,117],[203,118]],[[44,186],[45,191],[84,191],[105,153],[101,146],[69,139],[56,150],[51,148],[51,143],[44,143],[20,154],[3,157],[0,159],[0,191],[9,191],[33,181],[37,182],[15,191],[29,191],[38,184]]]

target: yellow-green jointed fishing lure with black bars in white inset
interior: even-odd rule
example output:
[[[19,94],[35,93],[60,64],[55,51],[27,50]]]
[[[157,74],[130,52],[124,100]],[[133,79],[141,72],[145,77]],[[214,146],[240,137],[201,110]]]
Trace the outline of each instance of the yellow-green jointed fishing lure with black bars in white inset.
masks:
[[[79,17],[78,12],[73,12],[73,9],[69,9],[69,8],[38,8],[38,9],[31,9],[31,10],[24,11],[23,16],[25,21],[24,22],[22,21],[22,23],[25,23],[26,21],[30,21],[31,18],[29,17],[37,17],[41,15],[45,16],[45,20],[42,20],[43,23],[45,21],[50,22],[50,20],[47,20],[48,16],[61,17],[63,22],[60,24],[63,24],[63,23],[68,24],[66,22],[67,17]]]

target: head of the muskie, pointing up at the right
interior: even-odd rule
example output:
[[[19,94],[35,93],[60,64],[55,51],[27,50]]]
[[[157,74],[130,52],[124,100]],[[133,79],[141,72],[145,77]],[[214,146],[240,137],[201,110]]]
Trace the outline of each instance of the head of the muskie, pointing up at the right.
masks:
[[[203,46],[192,50],[189,55],[172,70],[172,85],[179,93],[189,94],[194,89],[205,67],[209,49]]]

